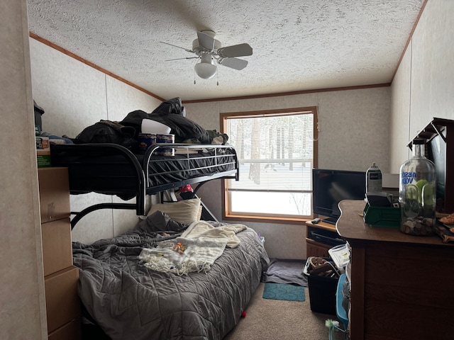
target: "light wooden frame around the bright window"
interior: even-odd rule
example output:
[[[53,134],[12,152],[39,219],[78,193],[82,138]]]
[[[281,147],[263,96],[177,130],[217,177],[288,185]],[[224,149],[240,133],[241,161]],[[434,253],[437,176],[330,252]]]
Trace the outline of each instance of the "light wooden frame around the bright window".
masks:
[[[262,110],[262,111],[240,111],[240,112],[227,112],[220,113],[220,131],[226,133],[227,120],[228,118],[243,117],[250,118],[258,117],[260,115],[286,115],[292,113],[312,113],[314,119],[314,154],[313,154],[313,167],[318,167],[318,145],[319,145],[319,115],[316,106],[307,106],[299,108],[280,108],[275,110]],[[311,186],[312,191],[312,186]],[[232,214],[229,212],[228,207],[228,186],[226,180],[221,183],[221,200],[222,200],[222,217],[223,220],[231,221],[245,221],[245,222],[271,222],[271,223],[284,223],[284,224],[301,224],[301,222],[306,222],[311,220],[314,217],[314,212],[311,210],[311,215],[309,217],[293,217],[289,215],[263,215],[263,214]]]

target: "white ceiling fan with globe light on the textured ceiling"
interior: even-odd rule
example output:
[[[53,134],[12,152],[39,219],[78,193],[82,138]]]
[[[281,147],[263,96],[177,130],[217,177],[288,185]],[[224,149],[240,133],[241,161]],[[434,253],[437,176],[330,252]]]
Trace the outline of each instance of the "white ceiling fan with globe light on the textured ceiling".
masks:
[[[216,40],[214,38],[215,36],[216,33],[214,33],[212,30],[201,30],[197,32],[197,39],[192,42],[192,50],[188,50],[177,45],[172,45],[168,42],[161,42],[170,46],[182,48],[186,52],[194,53],[196,57],[186,57],[170,60],[200,59],[200,62],[194,66],[194,70],[196,74],[202,79],[210,79],[214,77],[214,74],[216,74],[217,71],[216,64],[214,63],[215,60],[217,64],[231,67],[232,69],[244,69],[248,65],[248,62],[236,57],[253,55],[253,48],[246,43],[221,47],[221,42],[219,40]]]

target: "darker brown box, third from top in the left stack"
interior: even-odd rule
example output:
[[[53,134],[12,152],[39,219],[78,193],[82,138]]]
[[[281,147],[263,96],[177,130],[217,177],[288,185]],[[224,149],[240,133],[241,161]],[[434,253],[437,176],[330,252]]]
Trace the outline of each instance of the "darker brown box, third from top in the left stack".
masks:
[[[52,333],[52,331],[79,317],[78,280],[79,268],[74,266],[45,277],[45,310],[48,315],[48,333]]]

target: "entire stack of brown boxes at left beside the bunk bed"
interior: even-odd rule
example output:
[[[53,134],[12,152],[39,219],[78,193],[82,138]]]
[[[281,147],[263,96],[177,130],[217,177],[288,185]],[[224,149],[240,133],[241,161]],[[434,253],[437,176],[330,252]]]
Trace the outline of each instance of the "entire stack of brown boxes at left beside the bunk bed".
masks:
[[[38,181],[49,339],[79,340],[79,269],[72,265],[67,168],[40,168]]]

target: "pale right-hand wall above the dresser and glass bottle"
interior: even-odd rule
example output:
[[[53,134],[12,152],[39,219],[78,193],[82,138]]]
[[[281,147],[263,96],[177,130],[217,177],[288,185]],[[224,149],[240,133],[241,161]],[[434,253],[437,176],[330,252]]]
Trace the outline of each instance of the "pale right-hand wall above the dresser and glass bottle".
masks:
[[[392,83],[390,165],[432,118],[454,119],[454,1],[429,0]]]

